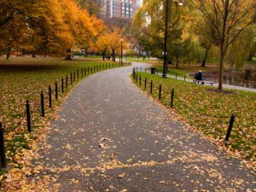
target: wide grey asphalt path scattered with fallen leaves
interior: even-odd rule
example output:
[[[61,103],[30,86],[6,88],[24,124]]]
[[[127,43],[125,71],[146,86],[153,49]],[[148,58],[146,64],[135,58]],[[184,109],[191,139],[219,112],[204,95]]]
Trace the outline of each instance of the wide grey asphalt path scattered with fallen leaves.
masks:
[[[34,166],[59,191],[255,191],[253,170],[173,120],[132,84],[132,67],[82,80]],[[49,186],[49,190],[50,190]]]

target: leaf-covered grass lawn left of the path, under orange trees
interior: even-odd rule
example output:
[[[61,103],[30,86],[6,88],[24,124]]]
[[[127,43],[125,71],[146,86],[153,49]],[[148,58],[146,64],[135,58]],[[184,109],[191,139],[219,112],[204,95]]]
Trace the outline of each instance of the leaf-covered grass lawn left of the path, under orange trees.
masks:
[[[29,143],[38,137],[39,128],[46,126],[48,120],[54,116],[56,109],[67,96],[75,84],[82,79],[84,69],[88,76],[88,68],[101,69],[117,67],[118,63],[111,61],[96,61],[90,58],[76,58],[65,61],[63,58],[45,57],[11,57],[9,61],[0,57],[0,122],[3,123],[5,133],[6,155],[9,165],[16,165],[17,154],[22,148],[30,148]],[[79,79],[77,76],[79,70]],[[70,73],[75,73],[76,79],[70,84]],[[66,76],[68,88],[66,88]],[[64,93],[61,94],[61,77],[64,77]],[[55,100],[55,81],[58,82],[59,99]],[[48,87],[52,87],[52,109],[49,109]],[[40,93],[44,91],[45,118],[40,113]],[[32,110],[32,133],[26,131],[26,100],[29,100]],[[20,121],[22,120],[21,124]],[[19,126],[18,126],[19,125]],[[40,134],[40,133],[38,133]]]

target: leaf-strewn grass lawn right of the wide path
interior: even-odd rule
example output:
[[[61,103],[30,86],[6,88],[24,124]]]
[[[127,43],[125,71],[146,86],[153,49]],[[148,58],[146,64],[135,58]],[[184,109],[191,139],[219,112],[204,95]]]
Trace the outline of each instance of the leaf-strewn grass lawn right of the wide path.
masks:
[[[223,142],[229,126],[231,114],[236,121],[230,136],[230,148],[247,159],[256,161],[256,93],[234,90],[232,94],[211,91],[212,87],[176,79],[162,79],[149,73],[138,73],[144,79],[150,94],[150,81],[153,81],[153,96],[158,99],[159,85],[162,86],[160,102],[170,108],[172,88],[175,91],[174,108],[189,125],[203,132],[215,141]],[[139,86],[139,80],[137,82]],[[150,94],[151,95],[151,94]]]

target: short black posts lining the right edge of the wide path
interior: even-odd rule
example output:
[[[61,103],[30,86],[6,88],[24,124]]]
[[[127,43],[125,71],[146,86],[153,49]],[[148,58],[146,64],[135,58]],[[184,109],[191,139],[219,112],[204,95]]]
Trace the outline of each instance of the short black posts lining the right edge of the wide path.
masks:
[[[138,81],[138,74],[135,73],[136,69],[133,69],[133,79],[136,80],[136,82]],[[146,69],[145,69],[146,71]],[[176,79],[177,79],[177,74],[176,74]],[[186,76],[184,77],[184,80],[186,80]],[[144,89],[147,90],[147,79],[144,79]],[[142,85],[142,76],[139,75],[139,85]],[[159,91],[158,91],[158,99],[161,100],[161,92],[162,92],[162,86],[161,84],[159,85]],[[153,94],[153,81],[150,81],[150,93]],[[171,101],[170,101],[170,106],[171,108],[173,108],[173,102],[174,102],[174,89],[172,89],[171,92]],[[224,139],[224,143],[228,144],[229,140],[230,140],[230,135],[231,135],[231,131],[233,129],[234,123],[235,123],[235,119],[236,119],[236,115],[232,114],[230,117],[230,123],[229,123],[229,127],[228,130],[226,132],[226,137]]]

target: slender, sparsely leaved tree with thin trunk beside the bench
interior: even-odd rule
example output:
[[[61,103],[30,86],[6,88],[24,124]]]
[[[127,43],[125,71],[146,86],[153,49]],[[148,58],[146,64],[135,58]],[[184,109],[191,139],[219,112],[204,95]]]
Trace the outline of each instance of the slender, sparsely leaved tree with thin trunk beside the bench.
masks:
[[[195,5],[213,27],[219,48],[218,89],[222,90],[224,57],[241,32],[253,24],[256,5],[252,0],[197,0]]]

